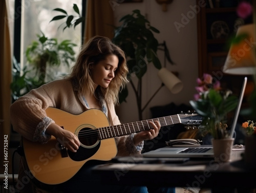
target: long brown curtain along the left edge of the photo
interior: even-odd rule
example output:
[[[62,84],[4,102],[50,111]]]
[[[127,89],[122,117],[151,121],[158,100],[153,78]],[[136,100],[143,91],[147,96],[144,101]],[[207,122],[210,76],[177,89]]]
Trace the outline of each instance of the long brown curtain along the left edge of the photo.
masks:
[[[12,79],[12,62],[11,62],[11,44],[8,27],[7,1],[0,1],[0,141],[2,148],[0,151],[1,163],[4,163],[4,135],[8,135],[8,145],[10,143],[10,104],[11,90],[10,83]],[[7,149],[6,149],[7,150]],[[8,155],[11,160],[11,155]],[[9,166],[10,168],[10,166]],[[0,167],[0,174],[4,173],[3,164]]]

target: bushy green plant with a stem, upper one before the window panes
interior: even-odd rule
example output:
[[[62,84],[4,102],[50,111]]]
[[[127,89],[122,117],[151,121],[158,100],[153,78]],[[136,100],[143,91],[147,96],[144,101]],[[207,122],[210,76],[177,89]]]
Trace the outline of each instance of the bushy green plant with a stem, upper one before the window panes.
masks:
[[[58,43],[56,38],[48,38],[44,33],[38,35],[38,40],[33,41],[27,47],[27,61],[36,69],[36,74],[41,81],[46,81],[48,67],[58,67],[61,63],[68,67],[70,62],[75,60],[73,48],[77,46],[70,40],[63,40]]]

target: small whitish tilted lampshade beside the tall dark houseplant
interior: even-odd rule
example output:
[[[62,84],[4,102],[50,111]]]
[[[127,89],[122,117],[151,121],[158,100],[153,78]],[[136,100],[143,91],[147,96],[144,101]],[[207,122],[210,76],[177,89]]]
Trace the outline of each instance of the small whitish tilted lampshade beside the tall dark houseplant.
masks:
[[[158,72],[158,76],[165,87],[173,94],[177,94],[183,89],[181,80],[166,68],[161,68]]]

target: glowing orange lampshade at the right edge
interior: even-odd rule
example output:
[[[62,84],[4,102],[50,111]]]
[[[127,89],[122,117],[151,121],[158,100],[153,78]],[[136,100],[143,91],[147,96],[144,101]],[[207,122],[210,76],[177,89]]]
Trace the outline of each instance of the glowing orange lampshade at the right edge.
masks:
[[[239,43],[233,43],[230,46],[223,72],[227,74],[250,75],[255,74],[255,26],[254,24],[239,27],[237,37],[239,35],[247,35],[243,37]]]

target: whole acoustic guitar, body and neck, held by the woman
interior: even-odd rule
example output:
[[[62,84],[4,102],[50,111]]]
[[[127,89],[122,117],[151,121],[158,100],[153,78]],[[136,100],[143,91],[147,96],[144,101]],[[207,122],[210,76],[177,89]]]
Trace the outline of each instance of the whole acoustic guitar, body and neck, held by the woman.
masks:
[[[55,185],[71,179],[79,169],[90,160],[110,161],[117,155],[115,138],[131,133],[150,130],[149,121],[159,121],[161,126],[185,122],[188,125],[198,124],[181,119],[195,115],[173,115],[125,123],[119,125],[109,124],[105,114],[97,109],[90,109],[79,115],[73,115],[65,111],[48,108],[48,117],[52,118],[57,125],[64,130],[74,133],[80,146],[76,153],[65,148],[67,141],[63,139],[51,139],[41,144],[22,139],[27,166],[40,185]],[[61,144],[64,144],[63,146]]]

